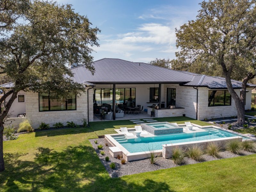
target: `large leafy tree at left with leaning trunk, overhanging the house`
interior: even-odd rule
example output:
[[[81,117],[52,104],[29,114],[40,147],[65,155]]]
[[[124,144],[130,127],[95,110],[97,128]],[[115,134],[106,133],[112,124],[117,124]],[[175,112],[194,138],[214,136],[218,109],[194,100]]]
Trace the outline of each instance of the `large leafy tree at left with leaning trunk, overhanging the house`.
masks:
[[[11,96],[4,109],[0,109],[0,171],[4,170],[3,122],[17,93],[29,89],[47,92],[55,99],[66,99],[68,92],[79,96],[85,92],[84,84],[72,79],[69,66],[81,63],[93,74],[95,69],[90,53],[92,46],[99,46],[97,33],[100,30],[92,28],[88,18],[74,12],[70,4],[38,0],[27,3],[25,11],[16,10],[19,8],[16,6],[6,9],[8,12],[15,9],[14,14],[19,13],[25,22],[6,22],[8,27],[2,29],[4,35],[0,39],[0,74],[10,77],[14,83],[0,98],[1,105]],[[7,14],[6,10],[0,11],[1,19]],[[12,33],[7,33],[8,30]]]

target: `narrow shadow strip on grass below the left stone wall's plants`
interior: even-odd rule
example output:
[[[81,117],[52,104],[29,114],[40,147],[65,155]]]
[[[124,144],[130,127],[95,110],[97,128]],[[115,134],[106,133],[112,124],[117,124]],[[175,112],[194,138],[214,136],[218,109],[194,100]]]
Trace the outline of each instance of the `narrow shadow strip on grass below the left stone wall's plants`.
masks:
[[[50,130],[35,130],[35,137],[53,137],[58,135],[67,134],[79,134],[79,133],[89,133],[94,132],[90,127],[80,127],[80,128],[60,128],[60,129],[50,129]]]

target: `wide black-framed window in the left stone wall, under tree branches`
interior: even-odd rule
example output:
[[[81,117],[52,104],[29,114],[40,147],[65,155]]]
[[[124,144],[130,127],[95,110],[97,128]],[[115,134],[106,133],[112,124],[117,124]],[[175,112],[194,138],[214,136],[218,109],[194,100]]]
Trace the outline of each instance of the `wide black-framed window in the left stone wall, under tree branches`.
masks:
[[[38,93],[39,111],[76,110],[76,94],[69,93],[67,100],[50,99],[47,93]]]

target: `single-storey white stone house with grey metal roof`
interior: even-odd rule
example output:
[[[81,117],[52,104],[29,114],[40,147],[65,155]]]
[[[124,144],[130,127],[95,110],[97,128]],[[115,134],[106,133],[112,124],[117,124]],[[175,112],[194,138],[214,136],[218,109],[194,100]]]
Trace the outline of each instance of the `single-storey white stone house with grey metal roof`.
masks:
[[[26,118],[34,128],[41,122],[51,126],[67,121],[82,124],[84,118],[92,122],[102,110],[108,113],[110,119],[122,119],[128,114],[118,113],[137,105],[147,109],[150,117],[153,104],[158,105],[156,117],[185,115],[202,120],[237,115],[235,102],[223,77],[121,59],[105,58],[94,61],[93,66],[94,75],[82,65],[70,69],[74,73],[74,80],[85,84],[86,93],[80,97],[70,93],[67,100],[57,101],[49,100],[46,93],[21,91],[10,110],[13,111],[12,117],[17,119],[18,114],[26,112]],[[232,84],[239,95],[242,83],[232,80]],[[0,87],[8,89],[12,83]],[[256,85],[247,84],[245,109],[251,108],[254,87]]]

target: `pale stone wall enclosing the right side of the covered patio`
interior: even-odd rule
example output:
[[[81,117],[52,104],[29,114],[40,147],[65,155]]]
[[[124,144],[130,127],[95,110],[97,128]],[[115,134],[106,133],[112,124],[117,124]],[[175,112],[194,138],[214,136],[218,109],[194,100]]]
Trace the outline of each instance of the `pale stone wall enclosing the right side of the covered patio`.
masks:
[[[176,107],[185,108],[183,109],[182,114],[185,114],[187,117],[191,117],[195,119],[196,118],[196,89],[194,89],[193,87],[180,86],[179,84],[164,84],[164,101],[165,102],[166,102],[166,96],[167,96],[167,88],[176,89]],[[179,116],[182,116],[182,114]]]

